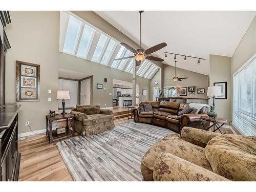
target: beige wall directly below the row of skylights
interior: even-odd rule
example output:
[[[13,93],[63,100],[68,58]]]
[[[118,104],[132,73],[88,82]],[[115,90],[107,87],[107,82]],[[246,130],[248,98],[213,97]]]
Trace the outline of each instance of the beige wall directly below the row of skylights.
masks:
[[[76,71],[86,72],[93,75],[93,100],[92,104],[100,104],[102,108],[111,107],[113,95],[113,79],[132,82],[132,74],[116,70],[111,67],[100,65],[96,62],[74,57],[69,54],[59,53],[59,68]],[[74,65],[75,63],[75,65]],[[104,82],[104,78],[108,82]],[[97,89],[97,83],[103,85],[103,89]],[[137,76],[137,83],[139,84],[139,101],[150,99],[150,80]],[[104,91],[106,88],[106,91]],[[142,89],[147,90],[147,95],[142,95]]]

